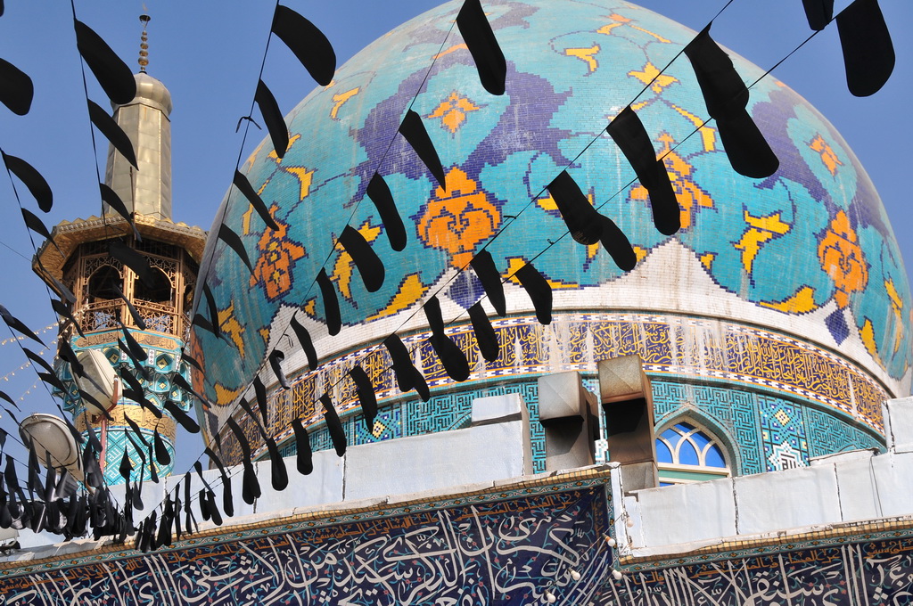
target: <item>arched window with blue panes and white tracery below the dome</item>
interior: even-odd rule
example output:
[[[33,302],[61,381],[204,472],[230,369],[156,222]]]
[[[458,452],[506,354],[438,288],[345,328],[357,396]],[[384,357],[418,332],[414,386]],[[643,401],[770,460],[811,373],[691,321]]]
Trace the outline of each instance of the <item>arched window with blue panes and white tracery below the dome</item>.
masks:
[[[726,451],[706,429],[681,421],[656,438],[659,486],[729,477]]]

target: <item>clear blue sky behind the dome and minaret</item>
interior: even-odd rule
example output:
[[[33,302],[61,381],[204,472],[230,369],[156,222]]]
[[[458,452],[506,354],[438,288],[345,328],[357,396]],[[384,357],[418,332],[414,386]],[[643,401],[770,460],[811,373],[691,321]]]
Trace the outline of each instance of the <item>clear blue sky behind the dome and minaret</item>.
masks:
[[[559,0],[554,0],[559,1]],[[0,107],[0,147],[42,172],[55,194],[55,207],[43,215],[48,226],[62,220],[100,213],[96,166],[104,173],[107,143],[97,136],[93,151],[83,97],[79,55],[68,3],[7,0],[0,17],[0,57],[28,73],[35,82],[35,102],[26,117]],[[241,152],[239,117],[247,115],[257,86],[257,73],[267,44],[272,17],[270,2],[177,2],[147,0],[149,73],[171,90],[173,139],[173,218],[207,228],[231,183]],[[438,4],[437,0],[339,0],[317,3],[284,0],[308,17],[330,38],[342,61],[376,37]],[[483,0],[483,5],[484,5]],[[644,0],[639,3],[695,29],[707,25],[724,0]],[[837,10],[849,3],[836,2]],[[913,86],[913,3],[881,0],[893,34],[897,66],[886,87],[874,97],[858,99],[845,86],[843,59],[835,24],[815,37],[774,72],[831,120],[866,166],[892,219],[908,274],[913,266],[913,240],[904,145],[913,135],[910,99]],[[91,0],[77,2],[77,16],[136,68],[141,2]],[[714,23],[712,34],[762,68],[770,68],[810,34],[799,0],[735,0]],[[687,60],[681,57],[680,60]],[[89,96],[105,106],[103,93],[89,78]],[[270,44],[264,80],[283,112],[291,110],[314,82],[289,50],[275,38]],[[252,131],[242,156],[262,138]],[[51,325],[55,317],[47,292],[30,269],[32,245],[22,224],[12,187],[0,179],[0,266],[5,287],[0,304],[33,329]],[[20,192],[24,188],[20,188]],[[26,205],[34,204],[24,197]],[[53,331],[43,335],[53,343]],[[0,341],[8,337],[0,330]],[[49,360],[51,354],[47,353]],[[0,390],[23,397],[29,412],[52,412],[47,391],[15,344],[0,346]],[[15,376],[11,375],[15,372]],[[26,393],[27,392],[27,393]],[[0,426],[14,429],[0,419]],[[180,436],[177,471],[183,472],[202,451],[194,436]],[[185,461],[185,463],[181,463]]]

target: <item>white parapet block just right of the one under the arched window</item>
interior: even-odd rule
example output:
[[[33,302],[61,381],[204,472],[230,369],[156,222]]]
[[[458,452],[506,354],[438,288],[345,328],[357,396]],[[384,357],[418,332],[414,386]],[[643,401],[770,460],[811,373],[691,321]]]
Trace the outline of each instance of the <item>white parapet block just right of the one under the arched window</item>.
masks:
[[[828,466],[733,478],[739,534],[840,521],[837,479]]]

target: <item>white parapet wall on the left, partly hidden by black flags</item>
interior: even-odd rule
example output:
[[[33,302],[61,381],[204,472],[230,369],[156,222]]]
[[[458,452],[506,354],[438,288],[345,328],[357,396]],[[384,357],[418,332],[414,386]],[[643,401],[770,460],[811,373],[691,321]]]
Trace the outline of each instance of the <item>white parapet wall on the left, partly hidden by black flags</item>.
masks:
[[[254,464],[261,495],[251,504],[241,496],[243,466],[226,470],[231,475],[234,494],[233,517],[227,517],[224,511],[218,469],[204,470],[202,480],[192,471],[190,495],[196,498],[201,489],[211,486],[224,527],[228,528],[303,512],[356,509],[481,490],[532,474],[530,415],[526,402],[517,393],[477,398],[472,403],[469,426],[463,429],[350,446],[341,457],[332,450],[320,451],[313,454],[314,469],[309,475],[298,473],[297,456],[285,457],[283,462],[289,486],[281,491],[271,486],[270,461]],[[162,503],[165,492],[173,495],[177,490],[184,500],[184,478],[185,475],[172,475],[157,484],[144,483],[143,507],[134,509],[133,519],[139,521],[151,514]],[[121,504],[124,489],[125,486],[111,488],[111,494]],[[215,526],[211,520],[199,519],[198,508],[194,508],[194,516],[200,529]],[[0,557],[0,561],[75,554],[111,542],[110,538],[85,538],[47,545],[58,538],[30,532],[20,538],[25,549]]]

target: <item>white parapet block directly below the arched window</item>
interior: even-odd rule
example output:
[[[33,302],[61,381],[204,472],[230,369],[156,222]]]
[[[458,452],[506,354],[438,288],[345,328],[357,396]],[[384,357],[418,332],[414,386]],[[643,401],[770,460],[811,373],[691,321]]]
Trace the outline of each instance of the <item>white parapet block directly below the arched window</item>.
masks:
[[[638,501],[643,546],[690,543],[736,534],[730,478],[641,490]]]

